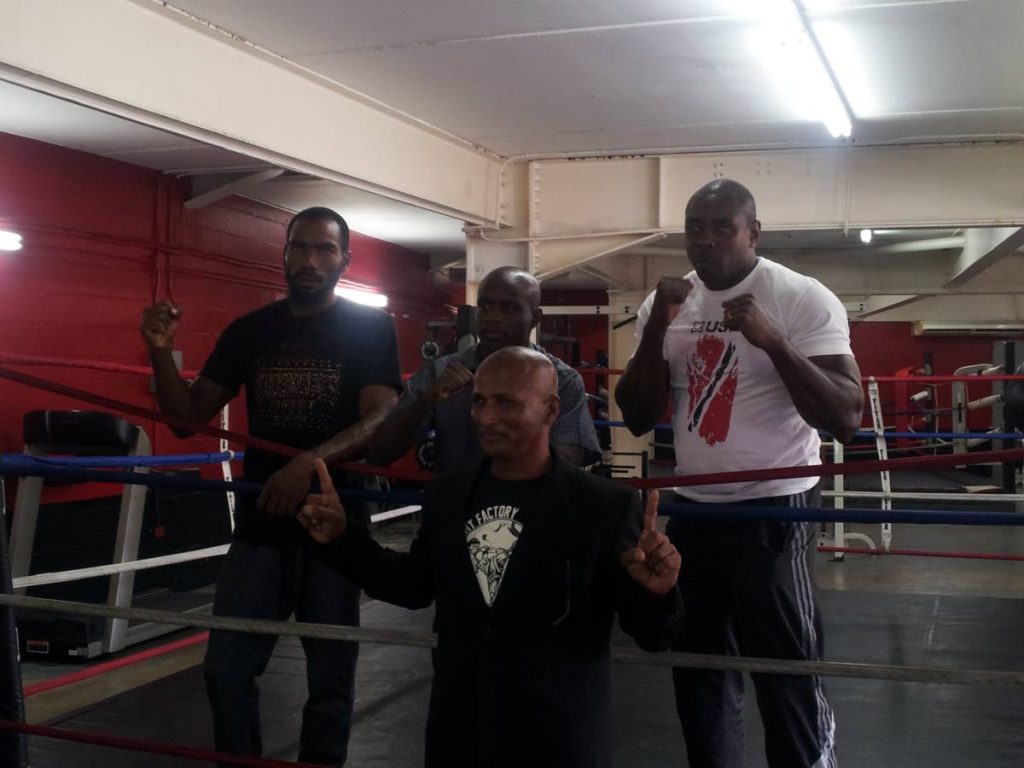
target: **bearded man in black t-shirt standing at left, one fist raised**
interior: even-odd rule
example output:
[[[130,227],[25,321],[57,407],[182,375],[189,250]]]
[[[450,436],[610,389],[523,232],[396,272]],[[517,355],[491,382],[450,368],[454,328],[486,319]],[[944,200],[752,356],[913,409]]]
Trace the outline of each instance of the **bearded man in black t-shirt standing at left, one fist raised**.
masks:
[[[215,614],[284,620],[295,613],[302,622],[358,624],[358,588],[310,556],[295,520],[314,462],[361,456],[401,389],[391,317],[334,294],[349,258],[341,216],[327,208],[297,214],[285,246],[288,298],[231,323],[190,385],[171,356],[181,310],[165,301],[143,312],[161,411],[205,424],[244,387],[250,434],[303,452],[289,458],[246,451],[245,477],[263,489],[259,498],[239,497]],[[210,633],[205,673],[218,750],[261,754],[255,678],[275,641]],[[302,645],[309,697],[299,760],[340,766],[348,751],[357,646],[306,639]]]

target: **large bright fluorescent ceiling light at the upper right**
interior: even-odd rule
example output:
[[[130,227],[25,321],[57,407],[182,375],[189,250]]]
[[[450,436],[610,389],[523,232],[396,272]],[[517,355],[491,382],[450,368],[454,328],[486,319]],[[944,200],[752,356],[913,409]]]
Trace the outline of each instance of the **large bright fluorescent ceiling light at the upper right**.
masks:
[[[751,46],[792,109],[823,123],[835,138],[849,136],[852,118],[824,51],[805,23],[800,0],[731,0],[730,4],[741,17],[755,22]]]

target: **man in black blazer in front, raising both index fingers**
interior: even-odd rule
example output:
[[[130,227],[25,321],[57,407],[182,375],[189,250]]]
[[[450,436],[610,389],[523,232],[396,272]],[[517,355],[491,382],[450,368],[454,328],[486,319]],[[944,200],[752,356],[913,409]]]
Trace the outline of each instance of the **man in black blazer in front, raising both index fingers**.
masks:
[[[408,553],[374,542],[331,487],[299,522],[325,563],[409,608],[436,602],[428,768],[611,765],[612,621],[648,650],[681,618],[679,553],[628,486],[562,461],[549,444],[557,378],[542,352],[480,364],[471,415],[486,459],[423,502]]]

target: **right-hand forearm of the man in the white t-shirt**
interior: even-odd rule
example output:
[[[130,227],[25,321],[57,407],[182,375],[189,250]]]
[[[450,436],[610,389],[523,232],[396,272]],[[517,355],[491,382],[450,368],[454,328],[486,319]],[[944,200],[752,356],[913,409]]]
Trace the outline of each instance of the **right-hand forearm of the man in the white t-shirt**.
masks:
[[[821,368],[784,340],[768,356],[804,421],[842,442],[853,437],[864,404],[859,381]]]

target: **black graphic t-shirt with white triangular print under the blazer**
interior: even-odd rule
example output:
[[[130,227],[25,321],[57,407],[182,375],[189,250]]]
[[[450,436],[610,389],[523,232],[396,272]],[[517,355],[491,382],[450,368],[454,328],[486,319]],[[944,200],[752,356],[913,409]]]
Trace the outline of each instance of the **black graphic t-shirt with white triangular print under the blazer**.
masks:
[[[541,503],[544,477],[502,480],[485,474],[470,500],[466,547],[483,602],[495,604],[519,538]]]

